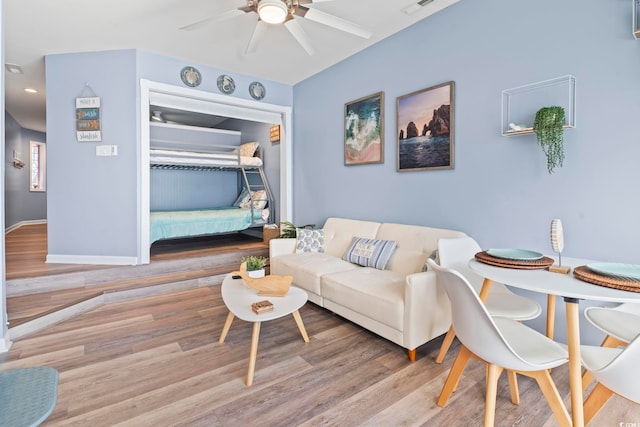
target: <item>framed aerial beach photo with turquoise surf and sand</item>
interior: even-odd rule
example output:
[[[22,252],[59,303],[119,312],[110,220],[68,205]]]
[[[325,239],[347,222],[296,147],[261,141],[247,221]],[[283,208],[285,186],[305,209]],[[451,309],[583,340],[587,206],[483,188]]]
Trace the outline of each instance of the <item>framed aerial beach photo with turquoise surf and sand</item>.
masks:
[[[384,92],[344,104],[344,164],[384,163]]]

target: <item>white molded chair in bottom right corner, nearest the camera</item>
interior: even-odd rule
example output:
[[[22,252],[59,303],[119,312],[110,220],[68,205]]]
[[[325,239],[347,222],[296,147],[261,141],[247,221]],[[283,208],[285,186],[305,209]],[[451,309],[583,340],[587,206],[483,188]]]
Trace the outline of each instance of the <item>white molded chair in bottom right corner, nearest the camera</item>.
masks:
[[[584,402],[588,424],[615,393],[640,404],[640,335],[624,349],[581,346],[582,365],[598,383]]]

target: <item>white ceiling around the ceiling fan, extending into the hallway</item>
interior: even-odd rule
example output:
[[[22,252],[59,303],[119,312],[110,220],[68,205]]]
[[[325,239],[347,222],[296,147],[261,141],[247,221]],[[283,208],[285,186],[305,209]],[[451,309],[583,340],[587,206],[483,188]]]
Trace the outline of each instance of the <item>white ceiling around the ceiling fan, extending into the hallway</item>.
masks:
[[[370,39],[296,17],[315,54],[309,56],[282,26],[268,26],[245,53],[257,15],[246,13],[189,24],[246,6],[246,0],[10,0],[4,2],[5,63],[24,74],[5,73],[7,111],[26,129],[44,132],[44,56],[56,53],[141,49],[185,65],[204,64],[229,72],[296,84],[459,0],[434,0],[412,14],[417,0],[322,0],[307,5],[356,23]],[[28,94],[24,88],[37,89]]]

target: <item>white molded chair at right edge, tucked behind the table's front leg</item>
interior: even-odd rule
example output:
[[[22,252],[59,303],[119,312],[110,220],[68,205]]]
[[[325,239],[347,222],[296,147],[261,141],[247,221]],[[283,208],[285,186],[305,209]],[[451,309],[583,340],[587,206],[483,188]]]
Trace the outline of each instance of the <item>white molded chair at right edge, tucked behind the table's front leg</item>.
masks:
[[[589,322],[607,334],[602,347],[626,346],[640,334],[640,304],[626,303],[614,308],[587,307],[584,316]],[[582,376],[582,390],[586,390],[593,381],[587,370]]]

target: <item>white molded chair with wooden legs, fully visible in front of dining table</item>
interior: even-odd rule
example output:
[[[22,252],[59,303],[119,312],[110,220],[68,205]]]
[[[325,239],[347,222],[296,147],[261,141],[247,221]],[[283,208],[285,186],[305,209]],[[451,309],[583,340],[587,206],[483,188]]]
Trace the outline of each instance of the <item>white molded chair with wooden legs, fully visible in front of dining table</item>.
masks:
[[[498,377],[504,369],[534,378],[558,423],[570,426],[569,413],[549,373],[549,369],[567,363],[567,350],[520,322],[492,317],[462,274],[440,267],[431,259],[427,262],[451,301],[453,328],[461,343],[438,406],[446,405],[464,367],[473,357],[487,364],[485,427],[494,424]],[[511,399],[514,400],[513,389]]]

